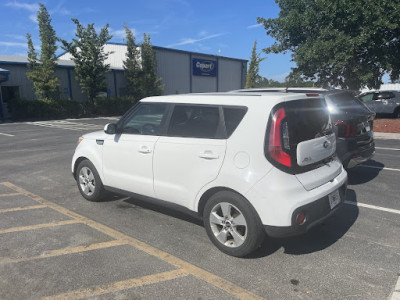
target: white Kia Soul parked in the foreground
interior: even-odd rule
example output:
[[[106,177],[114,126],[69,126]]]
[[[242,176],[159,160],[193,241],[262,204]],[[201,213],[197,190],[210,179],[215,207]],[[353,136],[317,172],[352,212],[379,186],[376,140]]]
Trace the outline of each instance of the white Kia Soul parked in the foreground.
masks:
[[[315,94],[150,97],[79,140],[72,172],[84,198],[109,190],[178,204],[233,256],[266,234],[305,232],[345,197],[347,173]]]

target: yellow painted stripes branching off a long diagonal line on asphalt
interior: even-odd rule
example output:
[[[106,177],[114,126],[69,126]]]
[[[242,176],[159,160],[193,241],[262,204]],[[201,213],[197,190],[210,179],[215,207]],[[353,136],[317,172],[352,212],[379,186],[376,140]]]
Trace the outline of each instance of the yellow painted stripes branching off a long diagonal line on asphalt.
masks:
[[[62,255],[70,255],[70,254],[80,254],[88,251],[93,251],[97,249],[106,249],[110,247],[119,247],[123,245],[127,245],[130,247],[135,248],[136,250],[140,250],[155,259],[161,260],[163,262],[172,265],[175,269],[170,271],[159,272],[155,274],[145,275],[141,277],[131,278],[127,280],[121,280],[117,282],[111,282],[107,284],[100,284],[95,286],[90,286],[88,288],[83,288],[74,291],[68,291],[66,293],[56,294],[56,295],[49,295],[45,296],[42,299],[81,299],[84,297],[90,296],[99,296],[104,294],[109,294],[117,291],[128,290],[135,287],[141,287],[145,285],[152,285],[161,282],[166,282],[170,280],[174,280],[181,277],[186,276],[193,276],[197,279],[200,279],[209,285],[212,285],[221,291],[231,295],[232,297],[238,299],[263,299],[250,291],[241,288],[217,275],[214,275],[208,271],[205,271],[199,267],[196,267],[178,257],[175,257],[167,252],[154,248],[144,242],[141,242],[133,237],[125,235],[119,231],[116,231],[110,227],[97,223],[91,219],[88,219],[84,216],[81,216],[73,211],[70,211],[64,207],[61,207],[53,202],[47,201],[42,197],[32,194],[18,186],[13,185],[9,182],[2,182],[0,183],[0,188],[5,187],[10,190],[13,190],[14,195],[24,195],[29,197],[30,199],[36,201],[38,205],[35,206],[27,206],[24,207],[24,210],[27,212],[29,210],[39,209],[39,208],[50,208],[62,215],[71,218],[70,220],[64,220],[59,222],[53,223],[45,223],[45,224],[37,224],[31,226],[22,226],[22,227],[14,227],[0,230],[0,234],[4,233],[12,233],[12,232],[19,232],[19,231],[26,231],[26,230],[38,230],[47,227],[54,227],[54,226],[63,226],[67,224],[75,224],[75,223],[82,223],[85,224],[107,236],[112,238],[113,240],[108,242],[100,242],[94,243],[88,246],[76,246],[71,248],[65,249],[58,249],[52,251],[46,251],[42,255],[39,256],[32,256],[32,257],[17,257],[17,258],[3,258],[0,260],[0,265],[4,264],[13,264],[13,263],[21,263],[27,261],[39,261],[42,259],[46,259],[49,257],[60,257]],[[2,194],[3,197],[10,198],[10,194]],[[12,198],[10,198],[12,199]],[[22,211],[22,208],[15,207],[15,208],[8,208],[4,209],[3,212],[0,213],[7,213],[12,211]]]

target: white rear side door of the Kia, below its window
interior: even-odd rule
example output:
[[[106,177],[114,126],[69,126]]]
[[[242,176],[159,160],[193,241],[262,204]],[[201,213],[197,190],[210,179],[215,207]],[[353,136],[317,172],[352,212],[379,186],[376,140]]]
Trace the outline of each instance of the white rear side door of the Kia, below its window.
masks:
[[[226,140],[160,137],[154,151],[154,190],[159,199],[193,209],[198,191],[218,176]]]

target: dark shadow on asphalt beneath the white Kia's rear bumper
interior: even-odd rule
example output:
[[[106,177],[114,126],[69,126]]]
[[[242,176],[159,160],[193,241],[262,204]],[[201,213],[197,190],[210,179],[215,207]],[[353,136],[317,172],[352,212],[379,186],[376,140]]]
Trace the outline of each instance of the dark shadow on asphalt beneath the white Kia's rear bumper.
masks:
[[[347,190],[346,200],[357,202],[354,190]],[[266,238],[263,245],[248,258],[268,256],[281,247],[284,248],[284,253],[292,255],[324,250],[342,238],[357,220],[358,213],[357,206],[343,204],[336,213],[301,236],[280,239]]]

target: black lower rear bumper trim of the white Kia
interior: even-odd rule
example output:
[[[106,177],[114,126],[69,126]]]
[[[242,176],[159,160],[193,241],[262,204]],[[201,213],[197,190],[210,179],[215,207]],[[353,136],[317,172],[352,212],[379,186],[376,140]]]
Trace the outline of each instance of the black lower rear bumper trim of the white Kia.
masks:
[[[298,207],[292,213],[292,225],[291,226],[270,226],[264,225],[265,232],[270,237],[288,237],[294,235],[300,235],[307,232],[313,226],[319,224],[332,214],[334,214],[339,207],[343,205],[347,190],[347,181],[339,187],[340,203],[333,209],[330,208],[328,195],[315,200],[311,203]],[[296,224],[296,216],[304,212],[306,215],[306,221],[302,225]]]

